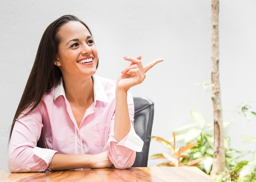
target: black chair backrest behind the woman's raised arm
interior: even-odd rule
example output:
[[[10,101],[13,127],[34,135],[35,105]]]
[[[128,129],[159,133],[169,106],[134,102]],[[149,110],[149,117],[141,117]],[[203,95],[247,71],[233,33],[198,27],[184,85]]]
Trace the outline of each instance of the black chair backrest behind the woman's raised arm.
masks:
[[[134,101],[134,129],[144,141],[141,152],[136,153],[132,167],[147,167],[148,151],[151,140],[151,130],[154,118],[154,103],[145,97],[133,97]]]

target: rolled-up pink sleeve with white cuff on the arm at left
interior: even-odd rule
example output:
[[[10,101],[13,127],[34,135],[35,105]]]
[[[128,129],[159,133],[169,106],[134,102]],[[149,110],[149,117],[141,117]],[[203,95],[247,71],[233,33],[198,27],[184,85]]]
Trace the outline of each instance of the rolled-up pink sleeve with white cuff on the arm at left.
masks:
[[[43,128],[39,107],[15,122],[8,151],[11,172],[45,171],[57,152],[36,147]]]

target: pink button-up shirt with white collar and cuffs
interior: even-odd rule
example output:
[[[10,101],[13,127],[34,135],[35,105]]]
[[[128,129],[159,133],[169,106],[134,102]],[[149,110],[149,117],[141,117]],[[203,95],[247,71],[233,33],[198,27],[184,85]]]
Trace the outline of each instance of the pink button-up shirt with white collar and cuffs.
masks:
[[[9,144],[11,172],[45,171],[55,153],[96,154],[108,150],[116,168],[131,167],[143,141],[133,128],[134,105],[128,92],[130,132],[118,143],[113,132],[116,81],[93,76],[94,103],[86,110],[80,127],[65,97],[63,81],[45,93],[40,104],[18,118]]]

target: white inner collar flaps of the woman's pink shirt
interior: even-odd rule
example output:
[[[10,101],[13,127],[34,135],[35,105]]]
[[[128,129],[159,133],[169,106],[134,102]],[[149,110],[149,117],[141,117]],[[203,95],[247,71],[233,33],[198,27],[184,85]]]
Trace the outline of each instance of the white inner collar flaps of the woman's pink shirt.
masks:
[[[92,76],[93,80],[93,92],[94,92],[94,105],[96,101],[103,101],[109,103],[108,96],[103,88],[103,84],[101,80],[97,76]],[[63,87],[63,79],[61,78],[58,84],[55,86],[54,89],[54,101],[58,98],[58,96],[63,95],[66,98],[65,90]]]

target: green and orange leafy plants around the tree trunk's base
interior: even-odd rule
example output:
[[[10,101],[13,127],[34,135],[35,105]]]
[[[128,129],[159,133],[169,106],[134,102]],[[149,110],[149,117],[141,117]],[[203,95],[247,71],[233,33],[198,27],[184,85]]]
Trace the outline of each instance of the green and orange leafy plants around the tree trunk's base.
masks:
[[[251,112],[254,114],[253,112]],[[199,167],[202,171],[209,174],[211,172],[211,167],[213,163],[213,124],[207,124],[204,116],[196,111],[191,111],[191,116],[195,123],[184,125],[183,127],[176,129],[173,132],[173,138],[170,140],[165,140],[164,138],[153,136],[153,140],[157,140],[166,146],[171,153],[159,153],[150,156],[149,159],[164,158],[168,162],[158,164],[158,166],[181,166],[192,164],[193,166]],[[229,123],[223,123],[224,128],[228,127]],[[255,138],[249,138],[243,136],[246,141],[255,142]],[[185,147],[180,147],[175,150],[175,144],[177,141],[183,142]],[[173,145],[171,143],[174,143]],[[230,148],[230,138],[225,137],[225,159],[227,171],[225,173],[220,173],[215,176],[217,182],[253,182],[256,180],[255,170],[256,170],[256,151],[253,154],[253,160],[240,161],[237,160],[250,151],[237,151]],[[182,153],[177,153],[181,151]],[[181,158],[180,158],[181,157]],[[180,158],[179,162],[177,160]],[[192,161],[189,163],[189,161]],[[196,162],[196,163],[195,163]],[[188,165],[189,164],[189,165]]]

